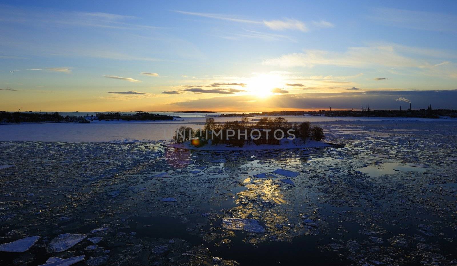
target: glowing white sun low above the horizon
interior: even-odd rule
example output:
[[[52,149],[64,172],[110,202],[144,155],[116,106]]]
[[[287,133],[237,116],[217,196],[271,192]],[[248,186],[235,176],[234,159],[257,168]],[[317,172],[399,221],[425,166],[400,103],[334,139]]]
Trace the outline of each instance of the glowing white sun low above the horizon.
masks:
[[[274,88],[282,88],[284,81],[279,75],[275,74],[258,74],[246,82],[248,93],[260,98],[273,95]]]

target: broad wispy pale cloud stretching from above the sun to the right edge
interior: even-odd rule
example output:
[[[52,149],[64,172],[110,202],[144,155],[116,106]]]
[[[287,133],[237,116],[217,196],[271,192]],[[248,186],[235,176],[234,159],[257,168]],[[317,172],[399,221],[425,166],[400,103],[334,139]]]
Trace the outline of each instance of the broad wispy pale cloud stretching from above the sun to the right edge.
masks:
[[[454,55],[449,54],[449,57]],[[405,49],[399,45],[378,45],[347,48],[345,52],[304,50],[303,53],[288,53],[277,58],[266,59],[264,65],[290,67],[314,67],[333,65],[350,68],[377,68],[392,74],[428,75],[435,77],[457,77],[457,65],[442,61],[446,57],[433,49]],[[403,72],[403,73],[402,73]]]

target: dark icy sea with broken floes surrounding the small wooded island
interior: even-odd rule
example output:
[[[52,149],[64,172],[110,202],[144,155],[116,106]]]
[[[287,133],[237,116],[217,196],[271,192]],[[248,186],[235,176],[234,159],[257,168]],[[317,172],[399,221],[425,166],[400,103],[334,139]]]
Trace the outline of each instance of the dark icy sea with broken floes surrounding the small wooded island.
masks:
[[[294,116],[345,148],[208,152],[163,145],[206,118],[177,115],[1,125],[0,245],[41,238],[0,264],[456,264],[457,120]]]

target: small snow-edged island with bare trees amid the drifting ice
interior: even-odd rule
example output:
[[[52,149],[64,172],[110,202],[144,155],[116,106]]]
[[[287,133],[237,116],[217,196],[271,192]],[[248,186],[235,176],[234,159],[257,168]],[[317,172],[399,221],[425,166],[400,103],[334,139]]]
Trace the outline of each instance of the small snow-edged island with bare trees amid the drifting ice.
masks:
[[[328,147],[324,130],[310,122],[288,122],[283,117],[261,118],[255,124],[241,121],[216,123],[207,118],[203,129],[182,126],[168,147],[196,150],[262,150]]]

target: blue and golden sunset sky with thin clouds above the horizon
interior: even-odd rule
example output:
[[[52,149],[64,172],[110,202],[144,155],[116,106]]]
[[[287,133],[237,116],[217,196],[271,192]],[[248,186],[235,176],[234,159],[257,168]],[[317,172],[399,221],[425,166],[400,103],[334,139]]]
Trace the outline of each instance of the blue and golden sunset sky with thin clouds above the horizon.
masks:
[[[0,1],[0,111],[457,109],[455,1]]]

